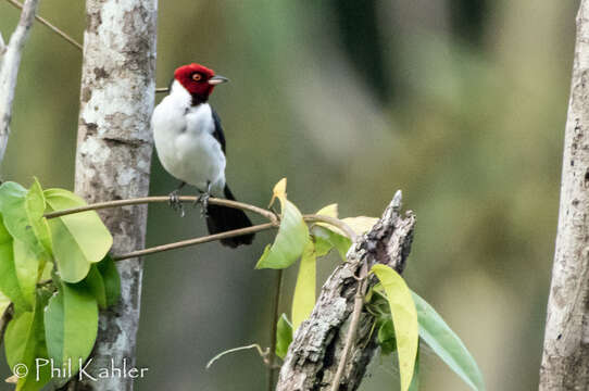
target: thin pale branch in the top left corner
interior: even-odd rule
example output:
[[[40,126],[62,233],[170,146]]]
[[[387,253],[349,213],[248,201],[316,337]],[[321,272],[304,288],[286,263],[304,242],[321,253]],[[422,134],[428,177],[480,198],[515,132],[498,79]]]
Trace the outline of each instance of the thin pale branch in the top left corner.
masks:
[[[4,46],[4,41],[0,37],[0,162],[4,159],[4,151],[9,141],[12,102],[16,89],[21,56],[30,27],[35,22],[38,4],[39,0],[25,1],[21,20],[10,37],[8,46]]]

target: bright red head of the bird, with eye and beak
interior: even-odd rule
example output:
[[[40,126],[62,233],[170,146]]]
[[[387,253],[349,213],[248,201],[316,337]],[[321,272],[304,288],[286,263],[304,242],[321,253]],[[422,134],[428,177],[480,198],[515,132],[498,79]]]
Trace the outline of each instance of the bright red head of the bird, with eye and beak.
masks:
[[[174,72],[174,78],[199,102],[205,102],[216,85],[228,81],[201,64],[188,64]]]

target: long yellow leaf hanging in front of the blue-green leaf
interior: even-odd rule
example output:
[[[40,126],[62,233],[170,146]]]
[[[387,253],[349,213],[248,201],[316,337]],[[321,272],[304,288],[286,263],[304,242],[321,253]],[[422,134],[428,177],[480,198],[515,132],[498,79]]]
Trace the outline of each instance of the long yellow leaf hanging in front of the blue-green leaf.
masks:
[[[413,303],[411,291],[405,281],[391,267],[376,264],[372,267],[372,272],[378,277],[387,293],[397,339],[401,391],[406,391],[413,377],[419,340],[415,303]]]

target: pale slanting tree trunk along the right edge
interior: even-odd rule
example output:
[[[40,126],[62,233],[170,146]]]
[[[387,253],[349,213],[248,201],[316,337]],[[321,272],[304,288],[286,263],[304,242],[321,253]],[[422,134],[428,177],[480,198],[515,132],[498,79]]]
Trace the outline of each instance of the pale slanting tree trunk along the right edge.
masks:
[[[589,389],[589,1],[577,14],[540,390]]]

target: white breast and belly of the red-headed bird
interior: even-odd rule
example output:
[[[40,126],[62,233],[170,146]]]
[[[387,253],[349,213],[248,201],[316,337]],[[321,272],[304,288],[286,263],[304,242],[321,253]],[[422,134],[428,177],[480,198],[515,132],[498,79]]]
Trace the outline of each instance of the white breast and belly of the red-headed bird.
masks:
[[[177,81],[153,111],[155,150],[164,168],[177,179],[211,194],[223,193],[225,154],[213,137],[215,124],[209,103],[192,106],[192,97]]]

